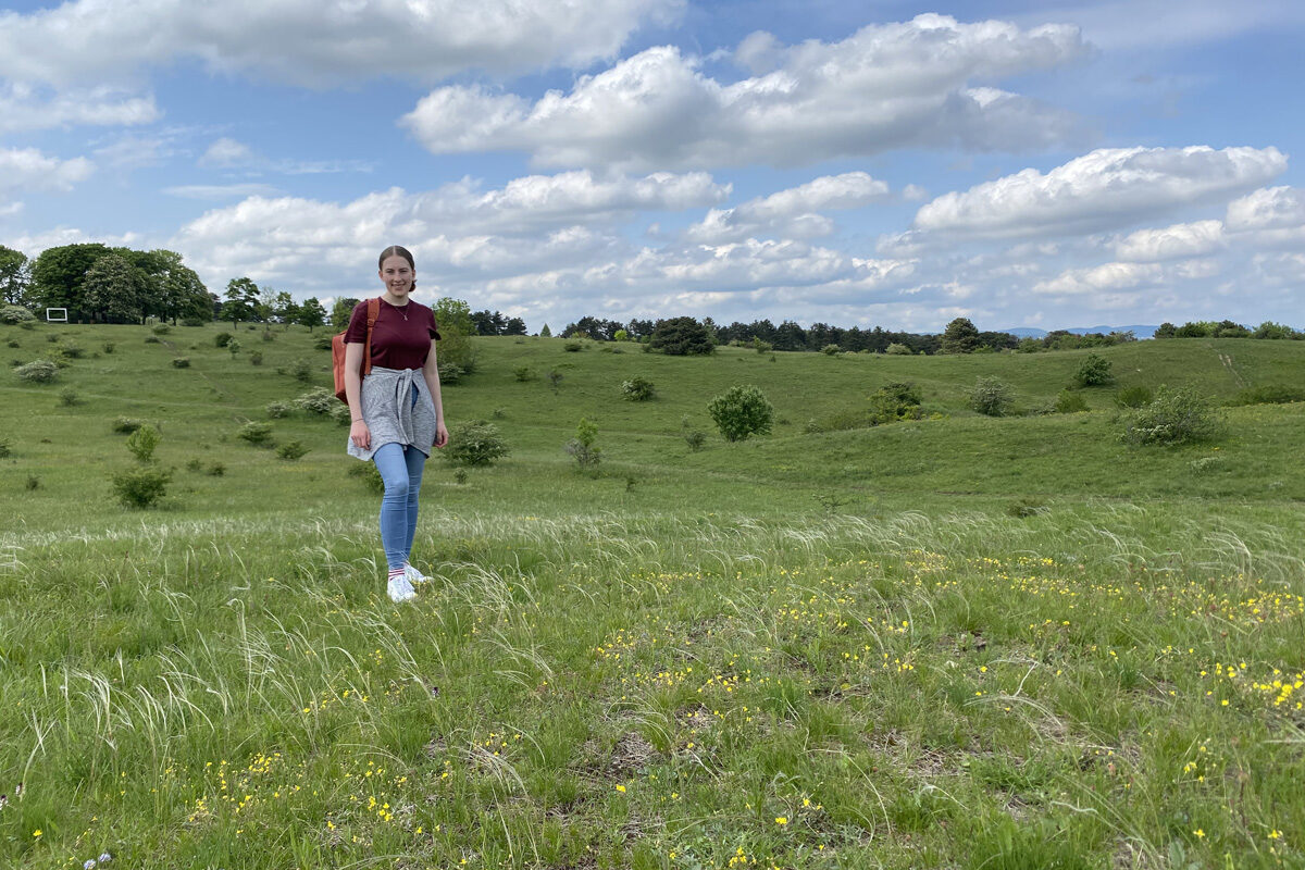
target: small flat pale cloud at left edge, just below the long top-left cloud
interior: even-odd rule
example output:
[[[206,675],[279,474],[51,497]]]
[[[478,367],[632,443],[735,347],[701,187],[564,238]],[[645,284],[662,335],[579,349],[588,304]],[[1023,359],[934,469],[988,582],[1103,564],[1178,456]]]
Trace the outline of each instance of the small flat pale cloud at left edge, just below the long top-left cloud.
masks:
[[[130,94],[115,87],[54,94],[50,89],[0,80],[0,134],[77,125],[125,127],[150,124],[158,119],[159,110],[153,95]]]

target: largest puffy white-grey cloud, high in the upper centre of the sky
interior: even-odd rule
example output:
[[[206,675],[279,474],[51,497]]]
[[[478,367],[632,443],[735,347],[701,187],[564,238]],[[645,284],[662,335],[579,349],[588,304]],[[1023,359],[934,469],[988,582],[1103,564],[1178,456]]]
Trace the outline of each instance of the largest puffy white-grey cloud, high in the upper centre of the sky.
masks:
[[[1069,25],[1021,30],[925,14],[837,43],[780,47],[754,34],[739,59],[758,72],[732,83],[664,46],[534,103],[479,86],[440,87],[402,124],[436,154],[519,150],[540,166],[625,170],[796,166],[898,147],[1022,151],[1070,140],[1074,120],[974,82],[1087,52]]]

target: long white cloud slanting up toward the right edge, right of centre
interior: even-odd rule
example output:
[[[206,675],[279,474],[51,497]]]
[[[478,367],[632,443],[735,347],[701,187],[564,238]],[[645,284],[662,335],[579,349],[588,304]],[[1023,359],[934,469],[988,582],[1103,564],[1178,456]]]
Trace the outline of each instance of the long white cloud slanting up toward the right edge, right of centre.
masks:
[[[1000,239],[1091,232],[1227,200],[1285,168],[1287,157],[1275,147],[1101,149],[1045,175],[1030,168],[941,196],[916,214],[914,235]]]

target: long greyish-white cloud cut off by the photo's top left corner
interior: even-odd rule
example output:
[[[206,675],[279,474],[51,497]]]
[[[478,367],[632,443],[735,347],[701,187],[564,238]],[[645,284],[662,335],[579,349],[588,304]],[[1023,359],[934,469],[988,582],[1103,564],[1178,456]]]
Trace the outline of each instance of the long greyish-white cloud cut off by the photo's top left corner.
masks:
[[[200,60],[296,85],[514,74],[613,56],[683,0],[70,0],[0,12],[0,77],[59,86]]]

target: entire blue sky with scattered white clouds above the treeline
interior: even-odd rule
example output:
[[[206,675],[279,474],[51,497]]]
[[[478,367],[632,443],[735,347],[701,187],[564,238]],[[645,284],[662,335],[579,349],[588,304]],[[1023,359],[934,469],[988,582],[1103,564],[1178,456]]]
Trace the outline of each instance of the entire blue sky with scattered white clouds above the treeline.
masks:
[[[0,7],[0,244],[553,329],[1305,326],[1287,0]]]

